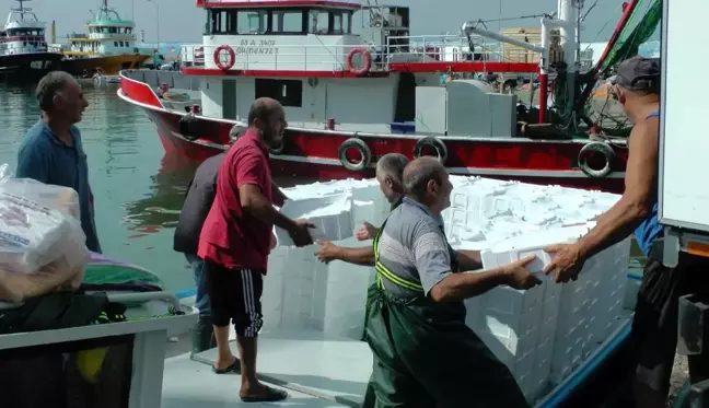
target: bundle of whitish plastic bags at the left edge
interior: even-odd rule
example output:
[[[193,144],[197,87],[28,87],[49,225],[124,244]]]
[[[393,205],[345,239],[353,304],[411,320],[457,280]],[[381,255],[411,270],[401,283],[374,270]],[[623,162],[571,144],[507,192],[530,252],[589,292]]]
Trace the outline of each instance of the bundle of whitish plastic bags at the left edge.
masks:
[[[0,299],[21,301],[78,289],[90,259],[79,195],[71,188],[10,178],[0,166]]]

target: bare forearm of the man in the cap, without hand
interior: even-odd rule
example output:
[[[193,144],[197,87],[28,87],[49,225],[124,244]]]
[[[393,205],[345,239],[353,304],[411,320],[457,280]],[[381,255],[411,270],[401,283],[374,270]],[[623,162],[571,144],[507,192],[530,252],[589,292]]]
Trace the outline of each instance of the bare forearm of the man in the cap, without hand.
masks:
[[[598,217],[596,226],[577,243],[584,258],[602,252],[628,237],[648,217],[648,209],[620,199],[605,214]]]

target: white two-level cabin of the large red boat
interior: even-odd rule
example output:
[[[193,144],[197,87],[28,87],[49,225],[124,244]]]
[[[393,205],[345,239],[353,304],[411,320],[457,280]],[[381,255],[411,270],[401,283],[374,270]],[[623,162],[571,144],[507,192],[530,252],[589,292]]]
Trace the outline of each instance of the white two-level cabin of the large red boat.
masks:
[[[206,32],[201,45],[183,48],[183,73],[201,77],[208,117],[245,119],[254,98],[268,96],[283,105],[290,126],[391,132],[393,123],[416,121],[445,133],[449,115],[437,107],[449,97],[442,74],[538,69],[503,62],[479,36],[410,36],[405,7],[329,0],[198,0],[197,7],[206,11]],[[460,104],[488,104],[493,91],[468,89],[475,95]],[[503,116],[513,118],[514,96],[499,96],[507,98]]]

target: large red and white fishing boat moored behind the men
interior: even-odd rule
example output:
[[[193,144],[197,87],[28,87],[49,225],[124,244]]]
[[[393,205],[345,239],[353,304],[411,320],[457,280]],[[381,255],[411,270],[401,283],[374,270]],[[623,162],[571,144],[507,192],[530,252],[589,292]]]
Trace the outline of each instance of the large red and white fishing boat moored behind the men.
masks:
[[[557,18],[542,18],[541,44],[475,22],[462,35],[411,36],[402,7],[198,0],[208,33],[183,55],[204,55],[204,66],[125,70],[118,95],[147,112],[167,154],[197,161],[228,149],[254,98],[270,96],[289,121],[287,143],[271,149],[275,172],[367,177],[379,156],[400,152],[435,155],[452,174],[619,193],[628,125],[616,120],[615,101],[590,96],[598,77],[647,40],[652,31],[630,34],[656,26],[659,14],[649,13],[656,3],[626,3],[604,55],[582,70],[581,2],[572,0],[559,2]],[[360,35],[354,13],[365,22]],[[441,83],[441,74],[456,79]],[[526,96],[507,94],[525,77]],[[196,108],[170,107],[164,90],[156,93],[163,84],[198,90]]]

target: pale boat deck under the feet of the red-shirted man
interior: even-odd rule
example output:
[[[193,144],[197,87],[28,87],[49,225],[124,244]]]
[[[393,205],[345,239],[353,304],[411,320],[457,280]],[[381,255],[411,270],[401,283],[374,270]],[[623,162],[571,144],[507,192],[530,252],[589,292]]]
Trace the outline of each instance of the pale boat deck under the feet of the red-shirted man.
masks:
[[[237,355],[234,341],[231,348]],[[163,408],[258,407],[239,398],[240,375],[217,375],[211,363],[217,350],[189,359],[183,354],[165,360]],[[264,407],[359,407],[372,372],[365,342],[325,339],[315,330],[263,330],[258,340],[261,381],[287,388],[289,398]]]

